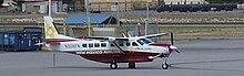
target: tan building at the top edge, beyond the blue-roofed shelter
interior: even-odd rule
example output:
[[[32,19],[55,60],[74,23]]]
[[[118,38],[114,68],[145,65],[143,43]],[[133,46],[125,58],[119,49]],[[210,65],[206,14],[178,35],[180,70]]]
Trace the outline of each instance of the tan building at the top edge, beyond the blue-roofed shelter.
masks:
[[[91,3],[91,9],[95,11],[115,11],[119,2],[120,10],[145,10],[145,2],[151,2],[150,7],[157,6],[157,0],[89,0]],[[114,3],[111,3],[114,2]],[[93,4],[94,3],[94,4]]]

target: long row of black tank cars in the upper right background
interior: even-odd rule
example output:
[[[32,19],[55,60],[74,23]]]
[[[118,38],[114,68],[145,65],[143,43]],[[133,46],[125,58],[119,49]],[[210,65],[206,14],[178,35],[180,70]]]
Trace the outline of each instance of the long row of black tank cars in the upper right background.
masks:
[[[161,4],[156,8],[157,12],[209,12],[209,11],[233,11],[237,9],[236,3],[212,3],[212,4]]]

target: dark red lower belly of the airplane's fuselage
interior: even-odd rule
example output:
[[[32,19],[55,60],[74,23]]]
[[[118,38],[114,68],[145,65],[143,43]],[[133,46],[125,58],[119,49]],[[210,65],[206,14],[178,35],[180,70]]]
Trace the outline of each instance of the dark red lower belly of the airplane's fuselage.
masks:
[[[73,54],[77,54],[73,52]],[[159,55],[159,53],[146,53],[146,52],[132,52],[124,51],[123,53],[104,53],[104,54],[78,54],[87,59],[101,62],[101,63],[112,63],[115,61],[116,63],[140,63],[140,62],[152,62],[152,58],[149,56]],[[162,55],[161,57],[164,57]]]

